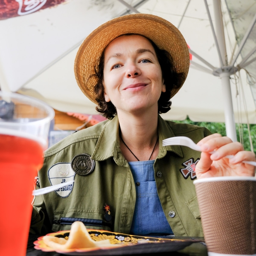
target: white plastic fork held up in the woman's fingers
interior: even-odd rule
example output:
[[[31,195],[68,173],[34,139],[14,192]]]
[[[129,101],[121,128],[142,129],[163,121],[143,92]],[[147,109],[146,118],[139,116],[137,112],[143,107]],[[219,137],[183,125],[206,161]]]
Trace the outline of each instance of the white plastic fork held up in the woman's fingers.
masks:
[[[163,146],[169,146],[169,145],[186,146],[186,147],[189,147],[189,148],[192,148],[192,149],[194,149],[196,151],[200,151],[201,152],[201,147],[196,145],[194,143],[194,141],[189,139],[188,137],[180,136],[180,137],[172,137],[172,138],[163,140]],[[215,153],[215,151],[209,152],[209,154],[213,154],[213,153]],[[232,158],[234,156],[227,155],[225,157],[226,158]],[[254,161],[242,161],[242,163],[247,163],[247,164],[250,164],[252,166],[256,166],[256,162],[254,162]]]

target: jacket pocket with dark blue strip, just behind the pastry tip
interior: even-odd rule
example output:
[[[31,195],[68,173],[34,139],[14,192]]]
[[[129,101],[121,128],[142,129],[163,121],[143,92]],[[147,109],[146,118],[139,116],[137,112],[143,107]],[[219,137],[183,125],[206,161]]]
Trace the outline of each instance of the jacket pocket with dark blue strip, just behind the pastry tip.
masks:
[[[113,216],[111,221],[104,220],[105,211],[99,209],[68,209],[55,210],[52,230],[70,230],[75,221],[84,223],[87,229],[103,229],[111,231],[113,228]]]

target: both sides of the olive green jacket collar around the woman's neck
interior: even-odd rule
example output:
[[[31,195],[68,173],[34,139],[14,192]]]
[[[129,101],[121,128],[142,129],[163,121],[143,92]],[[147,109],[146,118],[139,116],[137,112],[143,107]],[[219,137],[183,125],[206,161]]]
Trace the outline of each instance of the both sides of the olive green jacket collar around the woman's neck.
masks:
[[[178,156],[183,157],[183,153],[179,145],[162,146],[164,139],[175,137],[175,134],[173,133],[172,128],[160,115],[158,115],[158,137],[159,153],[157,158],[163,158],[167,151],[172,151]],[[123,157],[120,149],[118,116],[115,116],[112,120],[108,121],[103,127],[91,157],[96,161],[103,161],[113,157],[114,161],[118,165],[123,166],[125,164],[125,158]]]

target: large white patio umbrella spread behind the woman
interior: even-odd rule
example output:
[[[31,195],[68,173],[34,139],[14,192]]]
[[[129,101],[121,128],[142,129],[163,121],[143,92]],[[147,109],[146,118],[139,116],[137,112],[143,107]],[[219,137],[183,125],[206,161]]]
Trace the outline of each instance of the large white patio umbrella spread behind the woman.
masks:
[[[25,2],[23,0],[23,5]],[[4,35],[0,40],[1,90],[35,96],[60,111],[95,114],[95,105],[81,93],[73,73],[75,55],[81,41],[101,23],[127,14],[129,10],[150,13],[177,26],[193,55],[188,78],[172,99],[172,110],[163,114],[163,117],[182,120],[189,116],[193,121],[208,122],[225,120],[227,135],[236,140],[233,113],[236,122],[248,120],[249,123],[256,123],[254,86],[246,84],[245,73],[241,73],[243,87],[241,84],[239,87],[238,84],[231,83],[230,89],[229,82],[230,75],[236,71],[236,61],[241,62],[241,67],[254,58],[253,49],[256,44],[251,34],[255,31],[253,15],[256,13],[256,4],[254,0],[244,2],[246,3],[238,0],[70,0],[55,8],[0,20],[0,35]],[[241,12],[240,17],[237,17],[238,12]],[[252,32],[249,33],[250,31]],[[236,46],[237,43],[239,46]],[[239,55],[240,49],[243,60]],[[233,61],[226,61],[226,52],[229,60]],[[253,74],[254,69],[249,69],[250,65],[247,70]],[[242,92],[246,108],[241,100]]]

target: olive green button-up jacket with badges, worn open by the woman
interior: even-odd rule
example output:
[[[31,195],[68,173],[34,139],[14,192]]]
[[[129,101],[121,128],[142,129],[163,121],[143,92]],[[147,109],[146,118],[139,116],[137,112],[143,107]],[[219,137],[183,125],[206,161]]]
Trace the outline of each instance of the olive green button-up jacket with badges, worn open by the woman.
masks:
[[[193,163],[199,159],[200,152],[178,145],[163,147],[162,141],[186,136],[198,143],[209,134],[204,127],[158,118],[159,153],[154,163],[155,180],[163,211],[175,236],[203,236],[192,180],[195,178]],[[75,174],[69,168],[73,158],[83,153],[95,160],[93,172],[86,176]],[[75,182],[67,186],[67,191],[61,189],[36,196],[31,233],[70,230],[70,224],[60,223],[61,218],[83,218],[89,221],[85,224],[87,228],[130,232],[136,190],[131,169],[120,150],[117,116],[71,134],[47,149],[44,157],[44,166],[38,172],[41,188],[61,180],[74,179]],[[110,205],[111,221],[104,219],[105,204]],[[175,212],[175,216],[170,211]]]

